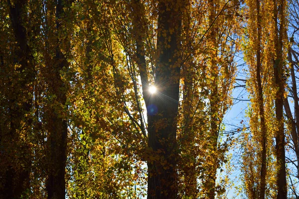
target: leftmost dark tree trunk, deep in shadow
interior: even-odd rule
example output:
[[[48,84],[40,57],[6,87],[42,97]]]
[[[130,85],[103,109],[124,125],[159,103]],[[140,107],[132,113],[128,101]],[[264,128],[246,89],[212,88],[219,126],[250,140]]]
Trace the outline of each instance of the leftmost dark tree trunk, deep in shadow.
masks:
[[[14,4],[7,0],[10,9],[9,18],[16,41],[15,64],[20,68],[16,69],[19,73],[18,79],[13,79],[10,91],[13,93],[9,97],[9,133],[5,136],[0,135],[1,142],[7,143],[5,159],[1,155],[0,161],[8,161],[5,176],[0,177],[4,182],[0,188],[0,198],[19,199],[25,197],[29,192],[29,174],[30,174],[30,149],[26,140],[20,138],[19,132],[24,130],[29,133],[31,130],[31,119],[26,117],[32,106],[32,97],[30,87],[34,81],[33,57],[27,44],[27,31],[23,24],[26,23],[26,0],[17,0]],[[12,53],[13,54],[13,53]],[[18,105],[22,104],[22,105]],[[24,122],[24,124],[22,124]],[[16,151],[15,151],[16,150]],[[2,159],[2,160],[1,160]]]

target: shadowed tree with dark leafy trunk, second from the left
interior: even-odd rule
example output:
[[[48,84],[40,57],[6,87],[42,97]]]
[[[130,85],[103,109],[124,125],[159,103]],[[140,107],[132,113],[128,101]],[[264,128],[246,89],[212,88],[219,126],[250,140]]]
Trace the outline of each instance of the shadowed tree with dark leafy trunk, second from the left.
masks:
[[[56,4],[57,3],[57,4]],[[45,107],[45,121],[47,130],[47,182],[48,199],[65,198],[65,167],[67,147],[67,118],[66,93],[67,85],[62,80],[61,71],[67,70],[67,52],[70,50],[68,24],[70,18],[70,1],[58,0],[55,4],[46,3],[47,12],[55,13],[55,20],[47,18],[49,35],[45,45],[45,66],[49,76],[47,95],[50,97]],[[54,9],[55,8],[55,11]],[[55,26],[54,26],[55,24]],[[51,32],[55,30],[55,32]],[[51,75],[50,75],[51,74]]]

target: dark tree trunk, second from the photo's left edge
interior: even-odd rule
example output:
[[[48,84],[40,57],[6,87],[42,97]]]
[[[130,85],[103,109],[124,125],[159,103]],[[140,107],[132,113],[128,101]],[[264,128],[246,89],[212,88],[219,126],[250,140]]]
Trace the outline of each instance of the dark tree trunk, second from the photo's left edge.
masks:
[[[68,45],[67,39],[63,39],[63,31],[66,31],[64,7],[67,1],[58,0],[56,5],[56,55],[50,67],[49,93],[55,95],[56,99],[48,105],[48,142],[49,142],[49,169],[47,179],[48,199],[65,199],[65,167],[67,147],[67,120],[60,105],[66,102],[66,86],[61,80],[60,70],[69,66],[65,55],[61,52],[61,44]],[[64,29],[64,30],[63,30]],[[59,35],[61,33],[61,35]]]

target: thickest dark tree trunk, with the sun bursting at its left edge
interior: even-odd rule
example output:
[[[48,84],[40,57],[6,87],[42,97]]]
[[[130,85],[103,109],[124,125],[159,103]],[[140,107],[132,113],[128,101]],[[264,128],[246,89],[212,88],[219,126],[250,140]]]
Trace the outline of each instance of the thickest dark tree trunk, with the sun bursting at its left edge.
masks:
[[[182,0],[159,0],[155,86],[148,108],[148,199],[175,199]]]

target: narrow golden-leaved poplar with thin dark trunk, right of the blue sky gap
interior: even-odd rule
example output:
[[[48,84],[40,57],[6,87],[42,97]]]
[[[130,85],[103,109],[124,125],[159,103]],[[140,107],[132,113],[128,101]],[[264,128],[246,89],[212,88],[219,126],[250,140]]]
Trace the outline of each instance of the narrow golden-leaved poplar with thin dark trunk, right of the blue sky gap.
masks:
[[[245,35],[248,41],[245,41],[244,59],[250,72],[248,91],[252,103],[248,115],[252,138],[247,142],[243,157],[245,190],[249,198],[264,199],[271,196],[270,192],[266,193],[267,187],[273,187],[270,176],[273,173],[271,142],[274,126],[270,118],[274,117],[274,86],[271,75],[273,42],[270,34],[274,23],[268,17],[272,12],[271,3],[260,0],[246,3],[244,14],[248,15],[248,26]]]

